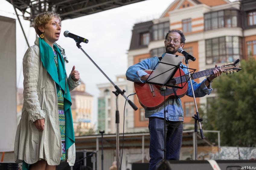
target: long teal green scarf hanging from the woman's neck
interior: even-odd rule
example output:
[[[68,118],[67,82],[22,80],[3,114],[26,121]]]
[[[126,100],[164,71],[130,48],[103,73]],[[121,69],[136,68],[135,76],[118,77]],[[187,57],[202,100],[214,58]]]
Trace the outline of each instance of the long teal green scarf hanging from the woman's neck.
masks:
[[[57,48],[56,45],[53,45],[54,50],[58,56],[58,73],[56,69],[56,65],[54,63],[54,54],[53,49],[48,45],[43,39],[39,38],[39,49],[40,49],[40,56],[41,61],[43,63],[44,68],[50,74],[54,82],[56,83],[57,92],[61,88],[64,91],[64,113],[66,118],[66,125],[65,125],[65,147],[66,150],[75,143],[75,135],[73,129],[73,120],[72,120],[72,113],[71,113],[71,97],[69,94],[69,85],[66,82],[66,70],[65,70],[65,63],[64,59]]]

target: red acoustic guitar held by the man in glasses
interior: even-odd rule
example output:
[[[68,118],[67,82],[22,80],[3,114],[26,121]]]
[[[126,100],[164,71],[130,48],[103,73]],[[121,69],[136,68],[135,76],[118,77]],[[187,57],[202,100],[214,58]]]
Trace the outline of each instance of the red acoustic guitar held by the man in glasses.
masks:
[[[235,73],[242,70],[242,68],[236,67],[239,61],[240,60],[237,59],[234,63],[223,64],[222,66],[219,66],[216,68],[221,68],[222,71],[227,74]],[[211,75],[213,74],[213,69],[215,68],[196,72],[191,76],[191,79],[193,80],[203,76]],[[144,71],[148,74],[153,72],[153,70],[144,70]],[[162,104],[164,104],[164,96],[165,96],[165,100],[169,98],[174,98],[174,97],[183,97],[187,92],[188,83],[189,83],[189,82],[188,83],[184,83],[184,82],[187,82],[188,80],[189,80],[189,75],[188,74],[185,75],[185,73],[180,69],[176,71],[176,73],[174,74],[174,77],[169,80],[167,85],[179,86],[179,87],[183,86],[183,88],[166,87],[166,90],[164,92],[163,90],[160,90],[160,88],[162,88],[161,85],[139,83],[139,82],[134,82],[134,88],[135,88],[135,92],[140,105],[148,110],[154,110],[160,107]]]

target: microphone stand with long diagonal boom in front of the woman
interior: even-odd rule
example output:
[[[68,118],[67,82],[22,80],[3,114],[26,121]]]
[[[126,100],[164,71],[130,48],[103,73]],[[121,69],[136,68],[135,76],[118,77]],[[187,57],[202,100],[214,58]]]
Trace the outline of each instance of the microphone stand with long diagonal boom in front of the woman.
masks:
[[[124,95],[125,90],[121,90],[117,85],[115,85],[115,83],[101,70],[101,68],[91,59],[91,57],[83,50],[83,48],[81,47],[80,43],[81,41],[79,40],[79,37],[74,38],[75,42],[76,42],[76,46],[81,49],[81,51],[91,60],[91,62],[101,71],[101,73],[108,79],[108,81],[114,86],[114,88],[116,89],[116,91],[114,91],[113,93],[116,95],[116,100],[117,100],[117,110],[116,110],[116,127],[117,127],[117,131],[116,131],[116,138],[117,138],[117,146],[116,146],[116,159],[117,159],[117,169],[119,169],[119,111],[118,111],[118,95],[121,94],[130,104],[130,106],[134,109],[137,110],[138,107],[136,107],[136,105],[130,100],[128,99],[128,97],[126,97]]]

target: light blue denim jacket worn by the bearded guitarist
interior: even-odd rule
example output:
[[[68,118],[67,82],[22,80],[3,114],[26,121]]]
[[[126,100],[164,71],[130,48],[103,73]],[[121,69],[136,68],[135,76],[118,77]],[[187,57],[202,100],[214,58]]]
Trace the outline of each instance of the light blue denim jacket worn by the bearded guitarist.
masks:
[[[162,54],[162,57],[164,57],[165,53]],[[146,60],[143,60],[133,66],[130,66],[128,70],[126,71],[126,78],[127,80],[130,80],[132,82],[141,82],[144,83],[144,80],[141,80],[140,78],[142,76],[147,75],[147,73],[143,70],[153,70],[159,62],[158,57],[151,57]],[[184,66],[183,64],[181,64]],[[186,67],[186,66],[184,66]],[[185,74],[188,73],[187,68],[181,67],[181,69],[184,71]],[[194,82],[192,80],[193,88],[194,88],[194,94],[195,97],[203,97],[206,94],[210,94],[212,92],[212,87],[209,85],[207,88],[206,85],[204,84],[205,79],[200,82],[199,84]],[[188,82],[188,89],[187,89],[187,96],[193,97],[192,94],[192,89],[190,86],[190,82]],[[166,120],[169,121],[183,121],[183,108],[181,104],[181,99],[180,98],[170,98],[166,100],[165,102],[165,109],[167,110],[166,113]],[[164,104],[160,106],[159,108],[155,110],[148,110],[145,109],[145,117],[160,117],[164,118]]]

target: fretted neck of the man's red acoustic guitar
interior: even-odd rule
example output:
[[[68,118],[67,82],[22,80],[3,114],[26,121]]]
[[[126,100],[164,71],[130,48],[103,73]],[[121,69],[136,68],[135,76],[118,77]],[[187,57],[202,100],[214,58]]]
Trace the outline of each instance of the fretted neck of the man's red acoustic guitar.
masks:
[[[215,68],[221,68],[221,67],[219,66],[219,67],[215,67]],[[211,75],[211,74],[213,74],[213,69],[215,69],[215,68],[196,72],[191,76],[191,79],[194,80],[194,79],[198,79],[200,77]],[[180,84],[180,83],[183,83],[183,82],[187,82],[188,79],[189,79],[189,75],[187,74],[187,75],[184,75],[184,76],[181,76],[181,77],[175,77],[174,79],[176,81],[176,84]]]

